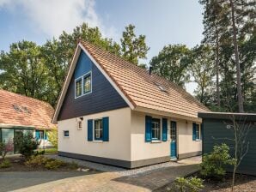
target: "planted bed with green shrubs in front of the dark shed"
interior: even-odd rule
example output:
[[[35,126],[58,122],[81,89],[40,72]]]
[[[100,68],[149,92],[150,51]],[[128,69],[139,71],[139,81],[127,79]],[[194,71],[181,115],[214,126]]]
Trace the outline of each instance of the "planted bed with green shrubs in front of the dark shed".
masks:
[[[231,158],[229,146],[214,146],[213,152],[204,154],[200,171],[188,177],[177,177],[174,183],[158,189],[159,192],[198,192],[198,191],[255,191],[256,177],[227,172],[237,169],[239,160]]]

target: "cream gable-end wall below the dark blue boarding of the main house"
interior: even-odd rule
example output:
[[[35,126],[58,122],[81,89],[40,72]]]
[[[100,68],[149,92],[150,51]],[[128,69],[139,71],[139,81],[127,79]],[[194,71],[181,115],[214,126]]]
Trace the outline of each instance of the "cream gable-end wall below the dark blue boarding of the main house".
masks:
[[[109,117],[109,141],[88,141],[88,119],[102,117]],[[71,118],[58,122],[58,151],[109,159],[131,159],[130,108],[84,116],[82,130],[77,130],[78,120]],[[70,131],[70,137],[64,137],[64,130]]]

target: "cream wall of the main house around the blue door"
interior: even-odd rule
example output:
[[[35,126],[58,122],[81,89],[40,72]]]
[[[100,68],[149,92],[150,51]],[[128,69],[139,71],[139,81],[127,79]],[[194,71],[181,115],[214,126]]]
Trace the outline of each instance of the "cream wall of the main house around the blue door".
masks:
[[[162,116],[147,114],[154,118]],[[131,161],[170,156],[170,122],[177,123],[177,153],[196,153],[202,151],[202,141],[192,141],[192,122],[168,118],[168,141],[145,142],[146,113],[131,111]],[[162,125],[162,122],[161,122]]]

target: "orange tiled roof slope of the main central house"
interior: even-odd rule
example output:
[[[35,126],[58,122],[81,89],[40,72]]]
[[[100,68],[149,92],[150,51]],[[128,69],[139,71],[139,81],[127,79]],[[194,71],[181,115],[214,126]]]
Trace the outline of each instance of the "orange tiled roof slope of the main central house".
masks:
[[[158,75],[141,69],[101,48],[80,42],[94,60],[101,65],[134,107],[198,117],[198,111],[210,111],[191,94]],[[157,85],[164,88],[162,91]]]

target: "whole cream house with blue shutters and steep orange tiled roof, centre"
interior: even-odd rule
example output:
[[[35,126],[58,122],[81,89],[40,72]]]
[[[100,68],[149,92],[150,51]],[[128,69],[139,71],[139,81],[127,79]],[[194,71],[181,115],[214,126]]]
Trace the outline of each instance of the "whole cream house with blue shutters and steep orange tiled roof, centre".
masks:
[[[181,87],[80,41],[53,117],[58,154],[126,168],[199,155],[198,111]]]

